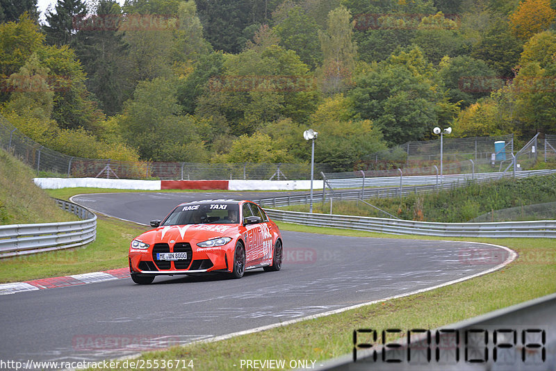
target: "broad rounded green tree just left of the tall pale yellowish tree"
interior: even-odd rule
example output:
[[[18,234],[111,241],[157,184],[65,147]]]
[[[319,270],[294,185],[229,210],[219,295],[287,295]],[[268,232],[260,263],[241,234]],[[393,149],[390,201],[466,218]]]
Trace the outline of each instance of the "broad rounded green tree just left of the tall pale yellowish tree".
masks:
[[[304,122],[318,94],[295,51],[277,45],[227,55],[224,73],[209,82],[197,113],[225,117],[234,135],[251,135],[261,122],[291,117]]]

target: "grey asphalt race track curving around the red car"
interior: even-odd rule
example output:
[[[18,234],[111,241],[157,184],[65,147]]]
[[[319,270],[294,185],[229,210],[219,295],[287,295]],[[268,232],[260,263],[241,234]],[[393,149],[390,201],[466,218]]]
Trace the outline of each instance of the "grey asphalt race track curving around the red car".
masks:
[[[146,224],[182,201],[204,198],[243,197],[161,192],[74,201]],[[282,233],[280,272],[156,277],[149,286],[117,279],[1,295],[0,359],[95,361],[190,343],[437,286],[488,270],[508,254],[468,242]],[[488,253],[486,261],[470,261],[475,249]]]

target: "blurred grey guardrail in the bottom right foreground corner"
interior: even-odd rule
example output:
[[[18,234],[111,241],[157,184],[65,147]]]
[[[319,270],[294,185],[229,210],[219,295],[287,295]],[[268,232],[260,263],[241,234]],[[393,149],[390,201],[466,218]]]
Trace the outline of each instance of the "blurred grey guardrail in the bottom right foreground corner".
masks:
[[[386,340],[387,346],[379,341],[380,329],[354,329],[357,334],[346,339],[352,340],[353,353],[327,361],[316,370],[555,370],[555,308],[556,294],[546,295],[428,333],[411,330],[414,333],[409,340]],[[373,331],[376,342],[370,336]],[[410,353],[413,357],[408,359]]]

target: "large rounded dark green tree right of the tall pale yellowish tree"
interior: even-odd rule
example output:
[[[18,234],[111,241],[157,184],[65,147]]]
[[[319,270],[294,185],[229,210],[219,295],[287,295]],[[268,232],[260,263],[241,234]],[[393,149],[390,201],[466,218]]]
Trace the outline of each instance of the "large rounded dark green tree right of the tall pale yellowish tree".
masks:
[[[434,126],[451,122],[457,107],[449,104],[434,68],[415,47],[375,63],[357,76],[349,97],[362,119],[370,119],[389,145],[423,140]]]

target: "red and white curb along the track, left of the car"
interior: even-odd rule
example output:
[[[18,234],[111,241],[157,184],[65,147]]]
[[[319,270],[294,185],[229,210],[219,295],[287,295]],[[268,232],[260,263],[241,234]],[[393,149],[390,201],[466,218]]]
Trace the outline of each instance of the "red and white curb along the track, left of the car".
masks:
[[[72,274],[63,277],[51,277],[47,279],[33,279],[32,281],[2,283],[0,284],[0,295],[15,294],[16,292],[44,290],[47,288],[60,288],[68,286],[85,285],[86,283],[112,281],[129,277],[129,268],[105,270],[85,274]]]

